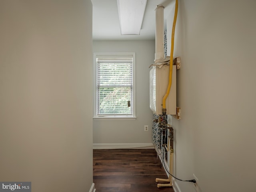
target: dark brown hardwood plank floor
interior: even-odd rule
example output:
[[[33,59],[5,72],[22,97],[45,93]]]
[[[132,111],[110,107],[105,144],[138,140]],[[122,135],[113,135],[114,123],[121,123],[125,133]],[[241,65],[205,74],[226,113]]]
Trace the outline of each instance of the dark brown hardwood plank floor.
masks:
[[[156,178],[168,178],[154,149],[93,150],[96,192],[174,192],[157,188]]]

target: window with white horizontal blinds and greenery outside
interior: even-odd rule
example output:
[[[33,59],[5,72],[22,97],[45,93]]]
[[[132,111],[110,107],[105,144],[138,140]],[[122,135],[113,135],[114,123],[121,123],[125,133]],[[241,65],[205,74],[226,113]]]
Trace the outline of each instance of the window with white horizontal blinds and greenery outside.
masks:
[[[94,117],[135,117],[135,53],[95,53]]]

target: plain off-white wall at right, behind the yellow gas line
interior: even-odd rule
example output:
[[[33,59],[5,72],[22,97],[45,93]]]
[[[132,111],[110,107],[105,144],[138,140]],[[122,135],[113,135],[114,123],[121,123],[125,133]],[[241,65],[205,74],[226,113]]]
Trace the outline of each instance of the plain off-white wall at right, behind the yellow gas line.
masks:
[[[179,1],[175,174],[194,173],[200,192],[255,191],[255,8],[253,0]]]

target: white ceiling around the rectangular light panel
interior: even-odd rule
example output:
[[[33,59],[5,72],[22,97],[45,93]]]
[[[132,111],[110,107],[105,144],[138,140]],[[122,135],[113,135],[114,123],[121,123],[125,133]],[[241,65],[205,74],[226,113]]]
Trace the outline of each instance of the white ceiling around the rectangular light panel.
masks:
[[[92,1],[92,38],[93,40],[154,40],[155,9],[164,6],[164,18],[174,6],[174,0],[148,0],[140,35],[121,35],[116,0]]]

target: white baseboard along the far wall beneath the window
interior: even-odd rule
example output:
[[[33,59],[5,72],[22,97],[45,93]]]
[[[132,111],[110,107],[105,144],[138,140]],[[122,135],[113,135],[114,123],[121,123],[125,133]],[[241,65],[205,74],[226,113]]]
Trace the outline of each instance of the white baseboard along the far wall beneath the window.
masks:
[[[154,149],[153,143],[94,143],[93,149]]]

